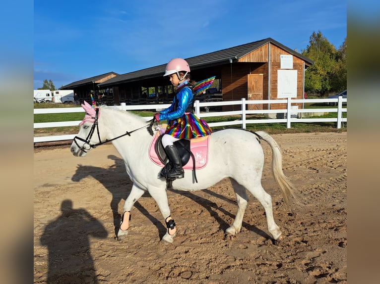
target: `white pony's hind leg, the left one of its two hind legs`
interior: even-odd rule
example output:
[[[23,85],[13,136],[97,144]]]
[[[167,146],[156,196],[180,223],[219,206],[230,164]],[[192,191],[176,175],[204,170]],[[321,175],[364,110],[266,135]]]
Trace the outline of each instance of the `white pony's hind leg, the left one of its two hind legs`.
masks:
[[[233,179],[231,179],[231,184],[235,191],[236,201],[238,203],[238,212],[236,213],[232,226],[227,228],[225,231],[227,235],[235,235],[240,232],[242,229],[244,212],[246,211],[248,204],[247,190]]]

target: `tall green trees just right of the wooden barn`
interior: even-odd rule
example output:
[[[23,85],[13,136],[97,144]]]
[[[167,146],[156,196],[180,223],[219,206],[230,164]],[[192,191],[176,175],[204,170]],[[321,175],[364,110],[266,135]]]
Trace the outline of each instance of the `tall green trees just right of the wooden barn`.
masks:
[[[345,42],[339,50],[329,43],[320,31],[313,32],[309,45],[302,54],[315,63],[305,72],[305,91],[326,95],[332,91],[343,91],[345,76]],[[344,60],[343,60],[344,58]],[[343,88],[343,90],[342,90]]]

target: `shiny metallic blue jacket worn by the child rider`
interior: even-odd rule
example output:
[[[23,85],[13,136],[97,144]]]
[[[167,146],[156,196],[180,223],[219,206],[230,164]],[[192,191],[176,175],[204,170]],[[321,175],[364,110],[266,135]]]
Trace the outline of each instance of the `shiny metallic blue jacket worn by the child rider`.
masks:
[[[185,85],[180,88],[178,94],[173,98],[173,103],[160,111],[160,121],[175,120],[182,117],[185,112],[192,112],[193,97],[191,86]]]

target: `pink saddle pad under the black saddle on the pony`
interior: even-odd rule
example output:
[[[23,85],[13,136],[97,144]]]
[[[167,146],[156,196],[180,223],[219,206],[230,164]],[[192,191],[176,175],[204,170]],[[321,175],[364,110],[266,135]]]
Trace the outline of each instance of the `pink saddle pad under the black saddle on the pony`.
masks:
[[[152,142],[150,143],[150,146],[149,146],[149,158],[156,165],[163,167],[164,164],[161,162],[155,149],[155,144],[159,136],[160,136],[160,133],[157,131],[157,133],[154,135]],[[190,151],[194,154],[196,170],[202,169],[207,165],[208,140],[209,140],[208,137],[209,136],[190,139]],[[184,170],[193,169],[193,161],[191,158],[189,159],[189,162],[183,168]]]

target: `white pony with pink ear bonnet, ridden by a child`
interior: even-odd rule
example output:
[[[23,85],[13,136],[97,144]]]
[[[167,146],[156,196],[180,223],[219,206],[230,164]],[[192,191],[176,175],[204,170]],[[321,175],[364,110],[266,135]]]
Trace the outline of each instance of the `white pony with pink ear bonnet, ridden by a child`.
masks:
[[[123,158],[127,174],[133,182],[123,212],[129,212],[133,204],[147,190],[157,202],[166,221],[171,216],[166,194],[167,183],[165,179],[158,177],[162,168],[153,163],[148,156],[152,136],[147,129],[151,129],[151,125],[148,126],[142,117],[127,111],[106,106],[94,109],[87,103],[82,107],[86,110],[86,115],[78,135],[71,144],[71,153],[83,157],[91,148],[112,141]],[[236,194],[238,211],[232,226],[225,233],[235,235],[240,232],[248,203],[246,190],[249,190],[264,207],[269,233],[279,241],[282,236],[273,219],[272,199],[261,186],[264,154],[260,140],[266,141],[271,147],[272,173],[285,203],[289,205],[290,197],[296,198],[294,187],[282,171],[279,146],[263,131],[253,133],[239,129],[225,129],[212,133],[209,137],[208,163],[196,171],[198,182],[194,181],[191,171],[185,171],[184,178],[173,181],[172,189],[184,191],[207,189],[229,177]],[[173,223],[174,221],[170,224],[172,229],[173,225],[175,226]],[[167,244],[174,241],[175,234],[170,235],[168,222],[166,225],[168,230],[161,241]],[[127,230],[119,229],[118,239],[124,239],[127,233]]]

